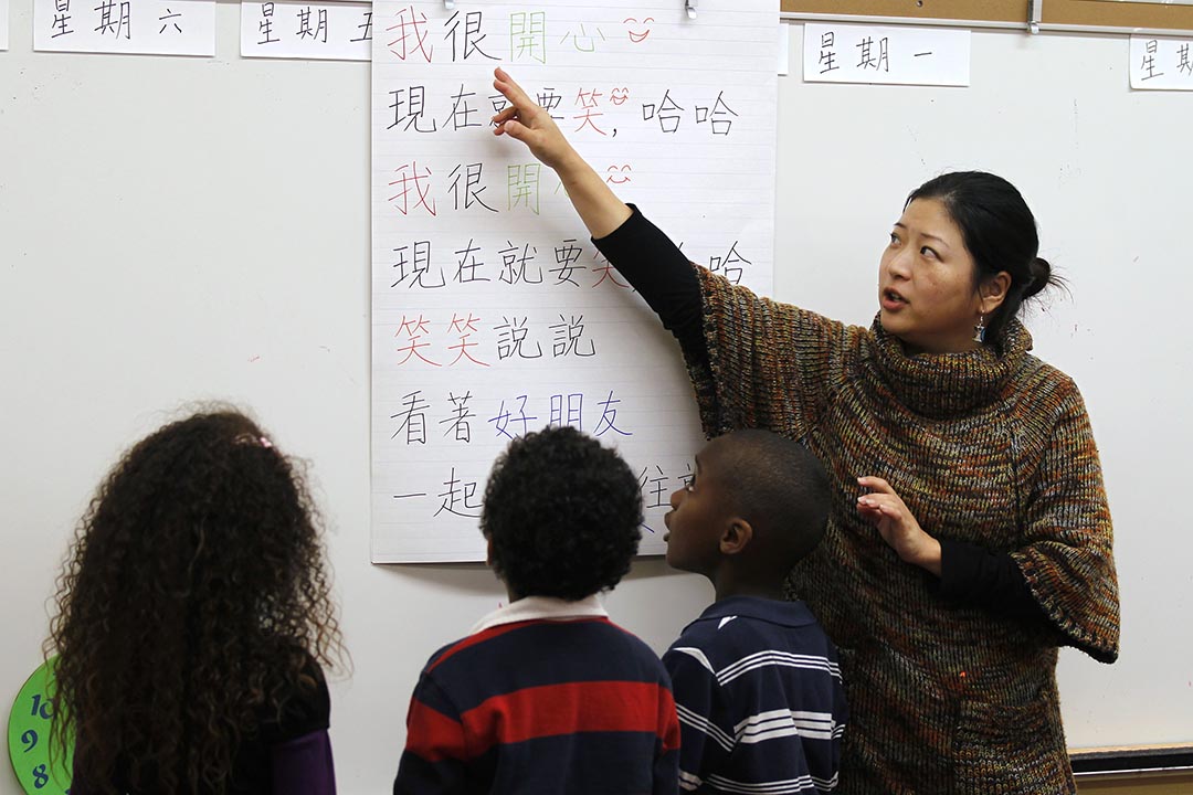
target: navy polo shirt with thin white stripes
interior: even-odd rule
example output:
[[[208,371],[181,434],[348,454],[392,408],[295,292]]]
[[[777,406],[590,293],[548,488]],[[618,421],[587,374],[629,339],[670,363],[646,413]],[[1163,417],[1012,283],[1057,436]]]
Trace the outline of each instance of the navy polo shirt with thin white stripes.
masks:
[[[731,596],[663,656],[679,713],[680,787],[830,793],[847,708],[836,650],[802,602]]]

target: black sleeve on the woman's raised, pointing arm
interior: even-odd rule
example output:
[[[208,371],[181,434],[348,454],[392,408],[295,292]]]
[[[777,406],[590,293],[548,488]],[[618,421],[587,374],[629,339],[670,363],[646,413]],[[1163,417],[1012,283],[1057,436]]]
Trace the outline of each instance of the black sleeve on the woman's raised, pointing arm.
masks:
[[[638,291],[670,331],[690,360],[707,361],[704,341],[704,302],[693,265],[679,247],[636,206],[625,223],[593,238],[626,281]]]

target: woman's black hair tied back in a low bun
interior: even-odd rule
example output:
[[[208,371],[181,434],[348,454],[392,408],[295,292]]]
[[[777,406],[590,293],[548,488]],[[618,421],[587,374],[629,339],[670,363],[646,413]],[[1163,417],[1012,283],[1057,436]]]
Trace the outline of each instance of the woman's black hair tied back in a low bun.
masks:
[[[1037,256],[1036,217],[1015,186],[1001,176],[985,172],[941,174],[911,191],[903,206],[916,199],[937,199],[945,205],[977,265],[975,284],[1000,271],[1010,274],[1006,299],[985,321],[990,337],[1001,334],[1024,300],[1049,285],[1064,284],[1052,274],[1047,260]]]

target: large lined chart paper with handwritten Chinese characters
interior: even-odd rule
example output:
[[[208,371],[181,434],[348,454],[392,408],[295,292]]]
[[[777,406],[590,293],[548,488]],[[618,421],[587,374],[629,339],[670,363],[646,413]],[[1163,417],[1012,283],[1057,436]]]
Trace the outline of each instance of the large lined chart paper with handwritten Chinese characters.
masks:
[[[777,24],[773,0],[375,5],[375,561],[482,560],[489,467],[548,424],[625,455],[662,551],[703,439],[679,348],[493,135],[493,69],[688,257],[769,292]]]

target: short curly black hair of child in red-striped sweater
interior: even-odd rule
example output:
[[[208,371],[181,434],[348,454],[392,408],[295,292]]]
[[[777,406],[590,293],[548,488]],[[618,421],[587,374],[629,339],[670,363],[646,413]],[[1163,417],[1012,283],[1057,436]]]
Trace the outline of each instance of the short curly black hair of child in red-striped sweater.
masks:
[[[642,489],[616,451],[575,428],[509,443],[484,489],[490,564],[517,597],[612,589],[638,551]]]

